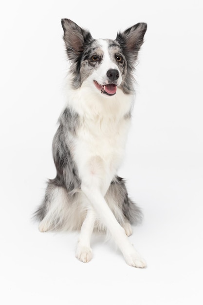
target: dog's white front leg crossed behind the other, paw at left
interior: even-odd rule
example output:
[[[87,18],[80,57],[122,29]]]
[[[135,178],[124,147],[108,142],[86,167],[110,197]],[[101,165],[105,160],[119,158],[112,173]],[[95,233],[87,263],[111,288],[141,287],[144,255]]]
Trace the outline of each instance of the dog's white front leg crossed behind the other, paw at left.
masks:
[[[87,211],[86,218],[80,230],[80,236],[75,254],[75,257],[83,263],[87,263],[92,259],[92,249],[90,246],[90,241],[91,241],[92,231],[94,228],[94,222],[95,222],[95,213],[92,210],[92,208],[90,208]]]

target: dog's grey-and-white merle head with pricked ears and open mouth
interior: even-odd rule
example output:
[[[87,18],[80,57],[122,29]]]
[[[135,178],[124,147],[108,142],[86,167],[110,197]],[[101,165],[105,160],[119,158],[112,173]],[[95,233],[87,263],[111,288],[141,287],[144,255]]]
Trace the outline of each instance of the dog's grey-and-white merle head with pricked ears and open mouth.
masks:
[[[117,87],[124,93],[133,93],[133,70],[146,23],[137,23],[118,33],[115,40],[93,39],[89,31],[70,19],[62,19],[61,23],[74,89],[88,81],[105,96],[115,95]]]

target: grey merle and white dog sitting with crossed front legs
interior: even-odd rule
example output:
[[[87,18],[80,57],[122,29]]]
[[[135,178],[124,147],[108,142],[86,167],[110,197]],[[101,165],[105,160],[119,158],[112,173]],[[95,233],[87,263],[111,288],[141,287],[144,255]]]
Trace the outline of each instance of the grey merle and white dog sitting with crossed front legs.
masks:
[[[145,260],[128,236],[142,218],[117,175],[134,104],[133,72],[147,30],[137,23],[115,40],[93,39],[70,19],[61,20],[70,73],[68,97],[53,140],[55,179],[47,182],[35,216],[41,232],[80,230],[76,257],[92,259],[93,231],[110,233],[129,266]]]

